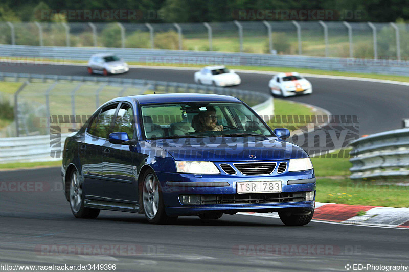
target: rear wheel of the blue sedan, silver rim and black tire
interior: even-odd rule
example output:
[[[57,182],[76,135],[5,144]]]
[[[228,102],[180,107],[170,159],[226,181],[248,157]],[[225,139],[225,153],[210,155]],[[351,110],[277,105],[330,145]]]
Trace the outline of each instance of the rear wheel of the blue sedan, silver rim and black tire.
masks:
[[[83,184],[77,170],[70,176],[70,207],[76,218],[97,218],[101,211],[84,207]]]

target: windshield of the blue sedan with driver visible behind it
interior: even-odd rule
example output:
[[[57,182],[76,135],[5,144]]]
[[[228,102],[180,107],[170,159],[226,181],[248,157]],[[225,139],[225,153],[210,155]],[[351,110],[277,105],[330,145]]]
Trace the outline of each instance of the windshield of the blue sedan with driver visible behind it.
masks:
[[[141,107],[147,139],[273,136],[242,103],[187,102]]]

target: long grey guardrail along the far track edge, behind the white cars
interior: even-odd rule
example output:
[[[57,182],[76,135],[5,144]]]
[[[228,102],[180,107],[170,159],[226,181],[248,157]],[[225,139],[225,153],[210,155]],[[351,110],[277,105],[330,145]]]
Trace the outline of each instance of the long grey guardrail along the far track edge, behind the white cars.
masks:
[[[152,65],[236,65],[275,66],[321,70],[336,70],[389,75],[408,75],[407,60],[374,60],[354,58],[326,58],[292,55],[272,55],[253,53],[225,53],[188,50],[149,50],[137,48],[85,48],[0,45],[2,57],[33,57],[58,60],[88,60],[95,53],[112,53],[126,61]],[[5,60],[3,60],[5,62]],[[12,64],[15,65],[15,64]]]

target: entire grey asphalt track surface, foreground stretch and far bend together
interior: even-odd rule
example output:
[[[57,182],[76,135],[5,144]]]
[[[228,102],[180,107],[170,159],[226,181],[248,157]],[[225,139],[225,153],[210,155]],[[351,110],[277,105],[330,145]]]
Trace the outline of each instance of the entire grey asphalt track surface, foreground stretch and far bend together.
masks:
[[[0,66],[0,71],[86,75],[85,67],[63,65]],[[193,72],[132,68],[115,77],[193,83]],[[271,76],[240,76],[238,88],[268,92]],[[400,128],[401,119],[409,117],[407,86],[309,80],[314,93],[289,100],[357,115],[361,135]],[[14,191],[11,182],[20,187]],[[182,217],[175,225],[150,225],[144,215],[110,211],[97,219],[76,219],[61,191],[58,167],[3,171],[0,184],[1,264],[102,263],[116,264],[117,271],[346,271],[347,264],[409,265],[407,229],[323,222],[288,227],[276,218],[249,215],[223,215],[215,221]],[[53,254],[47,255],[50,245],[55,245]],[[104,255],[78,255],[64,254],[67,245],[111,247]]]

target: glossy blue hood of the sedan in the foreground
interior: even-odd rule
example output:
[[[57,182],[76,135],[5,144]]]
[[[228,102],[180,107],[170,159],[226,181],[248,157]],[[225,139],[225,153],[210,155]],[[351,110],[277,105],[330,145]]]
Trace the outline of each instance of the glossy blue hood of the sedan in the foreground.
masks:
[[[147,142],[164,149],[176,161],[262,161],[308,157],[297,145],[277,137],[207,137]]]

